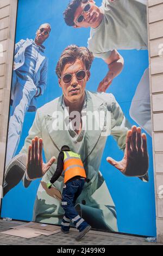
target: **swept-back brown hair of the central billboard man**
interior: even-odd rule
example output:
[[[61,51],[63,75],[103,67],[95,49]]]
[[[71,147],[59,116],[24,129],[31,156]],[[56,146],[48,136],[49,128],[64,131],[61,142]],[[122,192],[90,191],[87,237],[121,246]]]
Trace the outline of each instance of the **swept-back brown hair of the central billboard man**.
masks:
[[[61,73],[64,70],[64,67],[67,63],[74,63],[77,59],[82,60],[85,64],[86,70],[90,70],[93,62],[93,54],[89,51],[88,48],[77,45],[69,45],[61,53],[60,59],[58,60],[56,67],[56,74],[58,78],[61,77]]]

